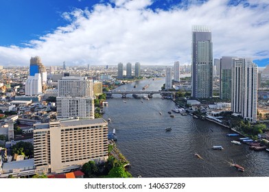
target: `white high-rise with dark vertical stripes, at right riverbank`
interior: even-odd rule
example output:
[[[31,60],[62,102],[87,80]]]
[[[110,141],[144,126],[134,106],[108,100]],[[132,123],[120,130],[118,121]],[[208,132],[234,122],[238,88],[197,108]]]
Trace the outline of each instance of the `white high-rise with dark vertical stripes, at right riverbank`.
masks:
[[[257,64],[250,58],[233,58],[231,108],[244,120],[257,121]]]

